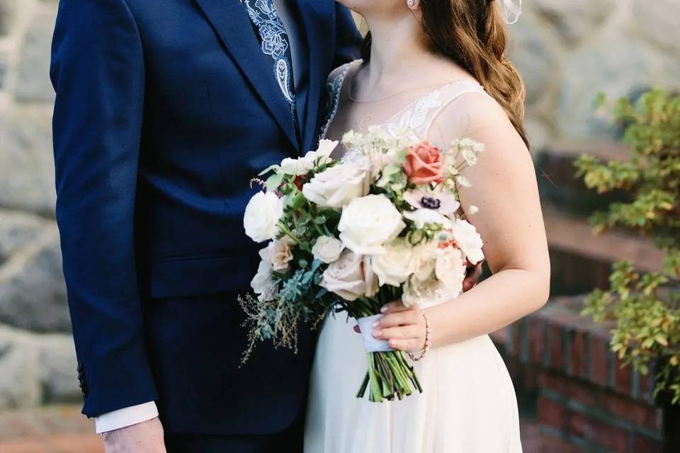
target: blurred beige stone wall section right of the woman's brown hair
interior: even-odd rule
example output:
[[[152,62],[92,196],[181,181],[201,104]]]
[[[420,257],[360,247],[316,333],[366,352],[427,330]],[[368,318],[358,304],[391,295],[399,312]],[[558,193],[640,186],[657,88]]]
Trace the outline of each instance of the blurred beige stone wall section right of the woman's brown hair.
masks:
[[[680,1],[525,0],[524,9],[509,27],[510,55],[526,81],[534,149],[611,134],[593,113],[599,91],[680,88]]]

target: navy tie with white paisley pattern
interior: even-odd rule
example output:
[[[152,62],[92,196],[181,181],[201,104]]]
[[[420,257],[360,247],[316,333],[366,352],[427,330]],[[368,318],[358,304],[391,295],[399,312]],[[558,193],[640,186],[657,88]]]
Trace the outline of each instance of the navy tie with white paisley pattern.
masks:
[[[295,121],[295,89],[290,41],[283,21],[278,16],[272,0],[242,0],[248,16],[259,34],[262,52],[274,60],[274,76],[281,92],[290,105]],[[295,124],[297,130],[297,122]]]

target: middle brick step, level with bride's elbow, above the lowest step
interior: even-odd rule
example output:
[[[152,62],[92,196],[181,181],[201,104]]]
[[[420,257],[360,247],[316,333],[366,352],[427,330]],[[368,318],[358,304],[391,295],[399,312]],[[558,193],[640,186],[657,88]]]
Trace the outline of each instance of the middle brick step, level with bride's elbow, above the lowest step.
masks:
[[[611,265],[632,260],[642,271],[659,270],[663,253],[647,238],[625,231],[595,235],[588,220],[543,203],[543,218],[550,246],[552,294],[583,294],[608,287]]]

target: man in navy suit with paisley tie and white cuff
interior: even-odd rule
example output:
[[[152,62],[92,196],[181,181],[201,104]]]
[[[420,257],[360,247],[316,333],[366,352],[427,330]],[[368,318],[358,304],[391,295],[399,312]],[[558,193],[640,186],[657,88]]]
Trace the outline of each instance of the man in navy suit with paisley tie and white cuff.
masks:
[[[312,339],[239,369],[242,214],[262,168],[316,147],[360,39],[333,0],[60,1],[57,220],[107,451],[301,450]]]

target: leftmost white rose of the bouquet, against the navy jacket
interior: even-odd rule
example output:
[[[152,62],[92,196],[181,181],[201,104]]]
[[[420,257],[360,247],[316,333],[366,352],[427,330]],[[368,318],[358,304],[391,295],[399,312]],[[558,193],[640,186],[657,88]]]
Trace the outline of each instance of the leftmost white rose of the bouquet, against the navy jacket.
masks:
[[[255,242],[273,239],[283,216],[283,200],[273,192],[258,192],[248,202],[243,216],[246,235]]]

